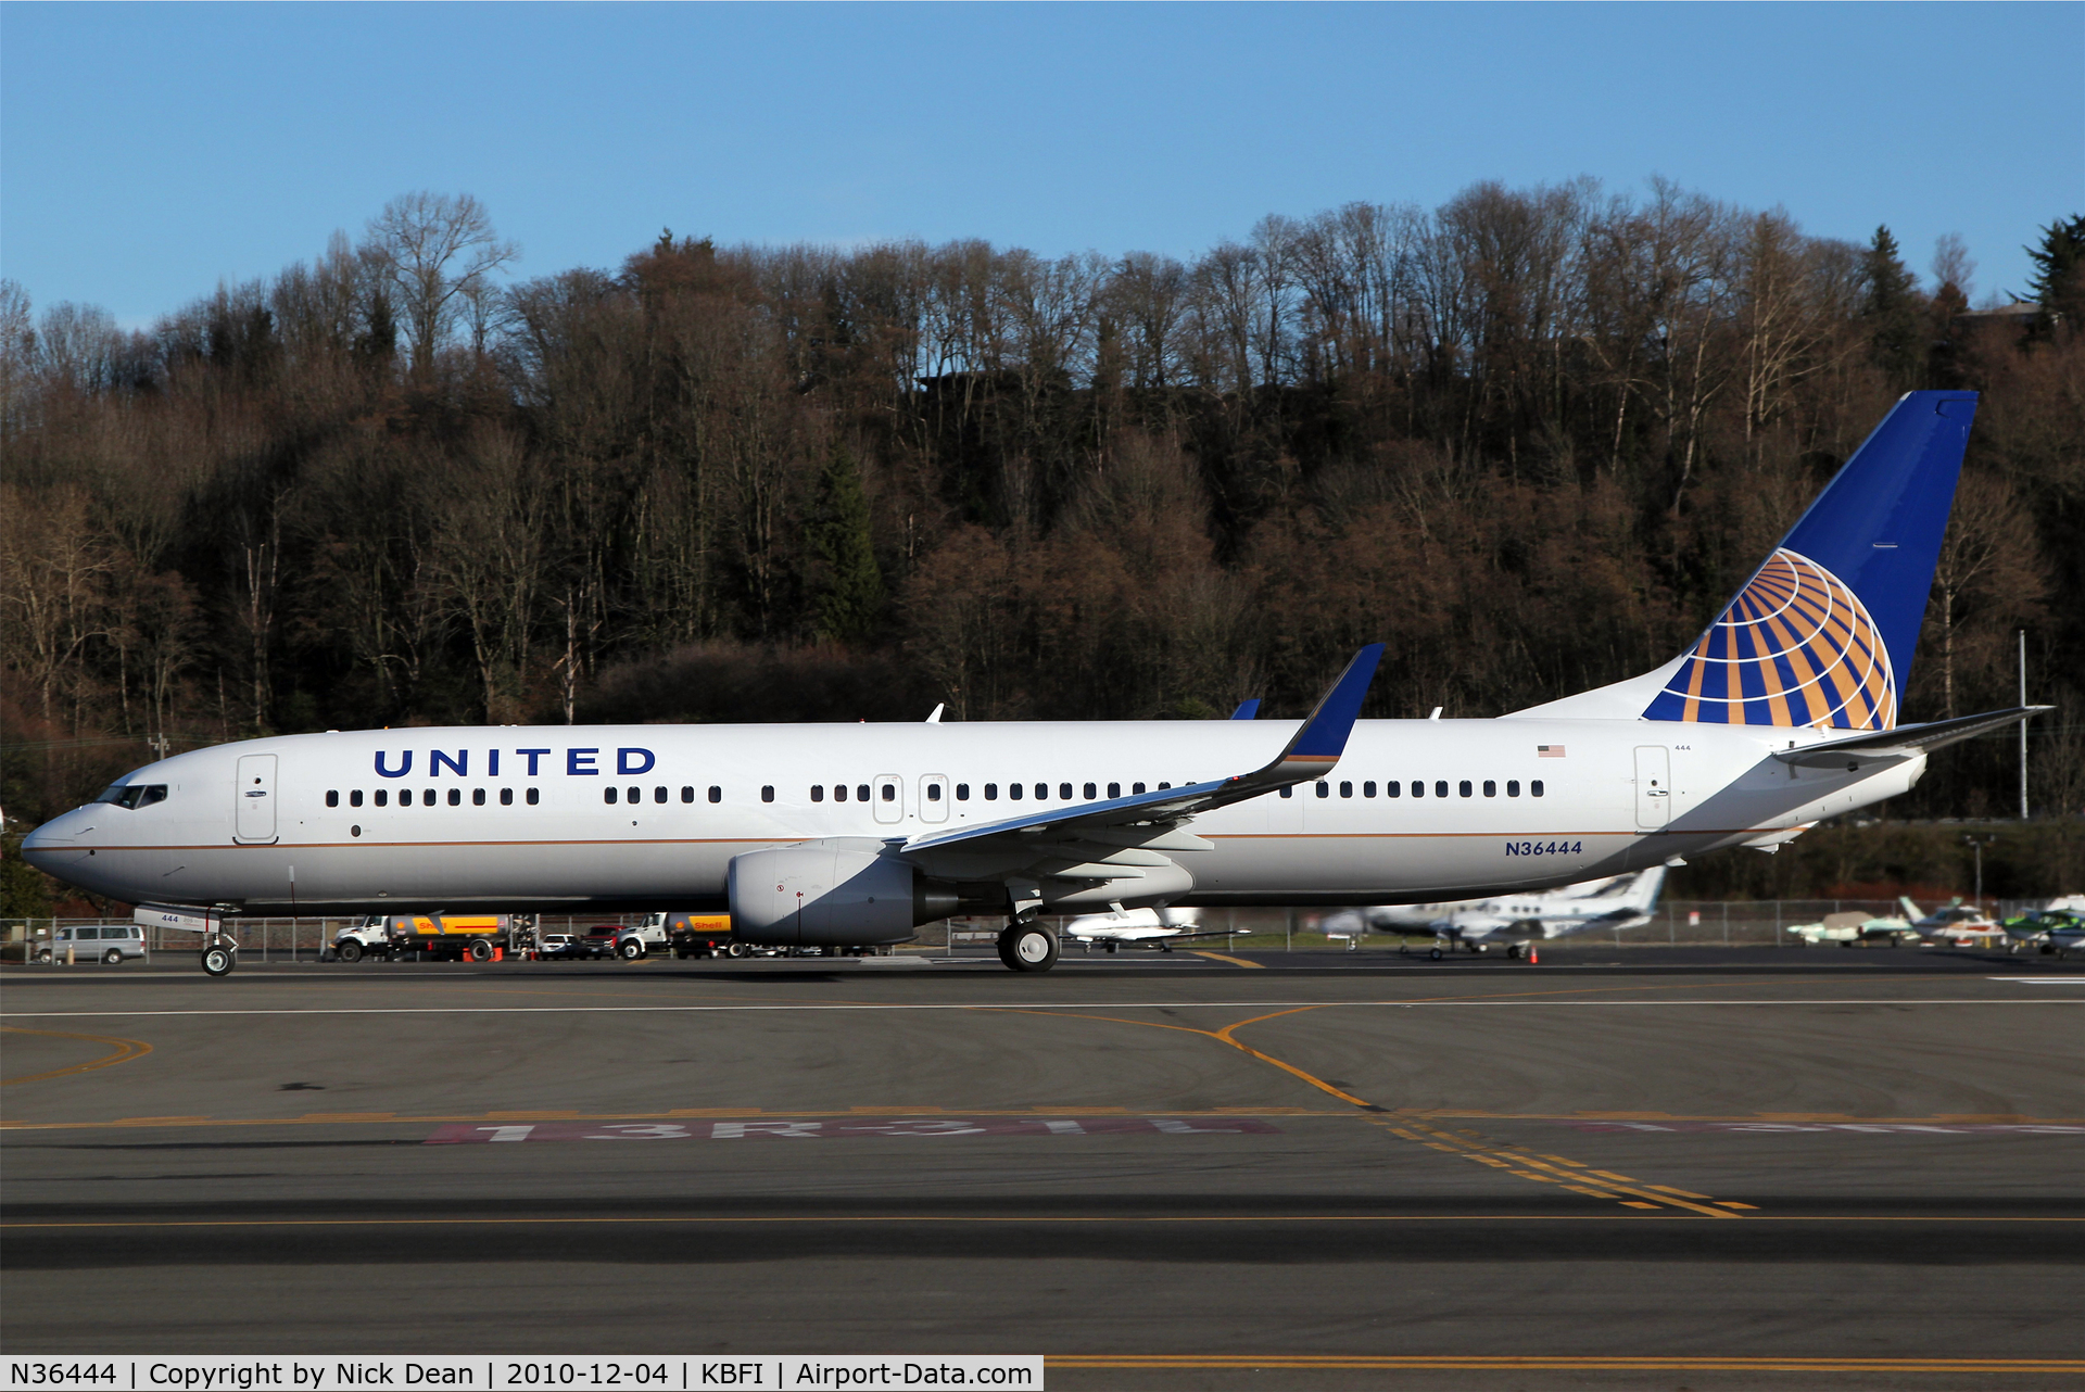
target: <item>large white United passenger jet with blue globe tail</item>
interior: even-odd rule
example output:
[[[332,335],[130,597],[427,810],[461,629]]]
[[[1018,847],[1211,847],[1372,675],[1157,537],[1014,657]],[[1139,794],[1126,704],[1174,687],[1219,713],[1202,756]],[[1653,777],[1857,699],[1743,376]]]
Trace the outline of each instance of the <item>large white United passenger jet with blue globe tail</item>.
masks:
[[[1699,642],[1499,719],[1357,721],[1374,644],[1301,723],[281,736],[146,765],[23,854],[204,925],[728,909],[740,942],[869,946],[1007,915],[1003,961],[1047,971],[1045,911],[1430,902],[1770,850],[2041,709],[1897,725],[1974,411],[1904,396]],[[236,952],[206,931],[202,959]]]

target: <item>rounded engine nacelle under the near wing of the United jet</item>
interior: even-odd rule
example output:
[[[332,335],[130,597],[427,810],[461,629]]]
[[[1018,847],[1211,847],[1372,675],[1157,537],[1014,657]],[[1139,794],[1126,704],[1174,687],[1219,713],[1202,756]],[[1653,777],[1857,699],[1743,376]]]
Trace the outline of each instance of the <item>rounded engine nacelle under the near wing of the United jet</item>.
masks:
[[[874,842],[872,842],[874,844]],[[732,856],[732,936],[767,946],[907,942],[955,913],[955,890],[861,844],[805,842]]]

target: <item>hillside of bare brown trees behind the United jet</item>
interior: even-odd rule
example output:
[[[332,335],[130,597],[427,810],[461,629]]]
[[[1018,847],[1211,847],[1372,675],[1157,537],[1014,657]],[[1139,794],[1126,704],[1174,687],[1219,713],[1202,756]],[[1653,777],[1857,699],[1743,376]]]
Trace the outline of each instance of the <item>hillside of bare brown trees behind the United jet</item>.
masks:
[[[2085,219],[2039,315],[1670,185],[1268,217],[1193,263],[726,248],[509,281],[417,194],[154,325],[0,294],[10,823],[261,731],[1497,715],[1658,665],[1889,402],[1985,392],[1906,719],[2085,811]],[[140,254],[150,254],[142,248]],[[2014,806],[2010,738],[1887,815]]]

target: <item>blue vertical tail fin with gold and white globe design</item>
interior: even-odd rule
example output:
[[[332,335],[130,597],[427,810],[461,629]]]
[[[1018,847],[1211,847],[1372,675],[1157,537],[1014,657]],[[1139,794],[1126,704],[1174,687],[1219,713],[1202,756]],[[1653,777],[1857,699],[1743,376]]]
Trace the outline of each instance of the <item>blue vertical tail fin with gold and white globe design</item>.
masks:
[[[1974,415],[1974,392],[1906,394],[1643,719],[1893,729]]]

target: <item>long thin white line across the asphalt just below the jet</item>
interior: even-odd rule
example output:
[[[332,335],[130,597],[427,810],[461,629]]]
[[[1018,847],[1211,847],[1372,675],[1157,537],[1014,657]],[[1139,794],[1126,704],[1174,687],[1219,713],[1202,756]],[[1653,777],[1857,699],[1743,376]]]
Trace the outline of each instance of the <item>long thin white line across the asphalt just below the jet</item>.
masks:
[[[156,1019],[169,1015],[761,1015],[792,1011],[1280,1011],[1295,1006],[1322,1009],[1387,1009],[1387,1011],[1439,1011],[1439,1009],[1549,1009],[1549,1011],[1599,1011],[1599,1009],[1666,1009],[1676,1004],[1712,1006],[1812,1006],[1812,1004],[1872,1004],[1872,1006],[1920,1006],[1920,1004],[2085,1004],[2085,1000],[2064,1000],[2058,996],[2029,996],[2008,1000],[1874,1000],[1874,998],[1820,998],[1820,1000],[982,1000],[976,1004],[398,1004],[398,1006],[311,1006],[306,1011],[0,1011],[0,1019]]]

